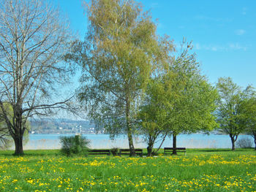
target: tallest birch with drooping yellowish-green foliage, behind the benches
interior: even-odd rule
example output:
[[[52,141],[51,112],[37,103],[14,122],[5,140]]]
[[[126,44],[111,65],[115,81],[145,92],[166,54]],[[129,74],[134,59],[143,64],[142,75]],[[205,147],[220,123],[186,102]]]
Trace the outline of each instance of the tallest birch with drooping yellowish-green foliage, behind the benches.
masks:
[[[151,15],[135,1],[91,0],[86,11],[86,39],[75,42],[67,55],[83,66],[78,96],[97,127],[112,137],[127,134],[130,155],[135,155],[138,103],[154,64],[167,58],[167,50],[159,47]]]

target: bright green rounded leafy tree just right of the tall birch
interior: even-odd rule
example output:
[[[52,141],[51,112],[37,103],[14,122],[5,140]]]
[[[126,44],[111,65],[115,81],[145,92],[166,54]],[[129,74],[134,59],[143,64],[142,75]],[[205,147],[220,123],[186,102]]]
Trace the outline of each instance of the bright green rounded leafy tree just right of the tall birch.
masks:
[[[206,131],[217,126],[213,115],[217,91],[200,74],[195,54],[189,54],[190,46],[187,47],[169,64],[169,69],[148,86],[148,96],[141,109],[144,117],[141,124],[148,140],[154,141],[161,133],[170,133],[173,148],[181,132]],[[151,149],[152,144],[148,142],[148,148]]]

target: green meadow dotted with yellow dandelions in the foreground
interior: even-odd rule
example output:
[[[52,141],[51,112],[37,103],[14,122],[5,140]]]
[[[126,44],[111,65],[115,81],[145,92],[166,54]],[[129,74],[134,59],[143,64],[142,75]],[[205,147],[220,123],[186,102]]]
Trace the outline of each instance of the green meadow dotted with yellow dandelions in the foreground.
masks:
[[[0,151],[0,191],[256,191],[252,149],[197,149],[152,158],[12,153]]]

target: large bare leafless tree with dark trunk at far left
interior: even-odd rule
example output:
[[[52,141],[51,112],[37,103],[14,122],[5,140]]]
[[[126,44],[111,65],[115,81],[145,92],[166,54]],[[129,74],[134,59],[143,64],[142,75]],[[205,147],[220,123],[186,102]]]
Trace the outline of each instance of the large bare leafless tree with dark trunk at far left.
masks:
[[[53,102],[52,96],[57,83],[67,79],[68,66],[60,61],[70,33],[46,1],[1,0],[0,14],[0,107],[20,155],[28,118],[49,115],[67,102]]]

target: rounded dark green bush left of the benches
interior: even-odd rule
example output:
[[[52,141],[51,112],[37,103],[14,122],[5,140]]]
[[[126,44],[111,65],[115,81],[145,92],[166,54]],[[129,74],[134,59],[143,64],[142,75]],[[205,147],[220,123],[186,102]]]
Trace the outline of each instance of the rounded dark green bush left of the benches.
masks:
[[[89,150],[89,140],[80,135],[60,137],[61,153],[67,156],[70,155],[86,155]]]

